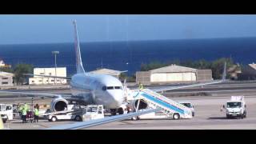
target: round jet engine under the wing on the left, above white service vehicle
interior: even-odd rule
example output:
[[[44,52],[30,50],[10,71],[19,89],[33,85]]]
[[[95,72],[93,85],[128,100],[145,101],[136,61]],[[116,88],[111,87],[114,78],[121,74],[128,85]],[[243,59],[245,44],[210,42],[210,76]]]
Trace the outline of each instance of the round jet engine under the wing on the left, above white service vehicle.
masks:
[[[62,111],[67,110],[68,101],[64,98],[54,98],[50,103],[51,111]]]

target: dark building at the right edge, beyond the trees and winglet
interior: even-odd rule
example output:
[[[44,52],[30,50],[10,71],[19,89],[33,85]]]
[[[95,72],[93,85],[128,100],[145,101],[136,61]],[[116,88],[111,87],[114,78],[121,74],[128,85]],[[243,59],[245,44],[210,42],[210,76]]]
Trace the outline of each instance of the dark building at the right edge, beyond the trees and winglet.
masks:
[[[239,80],[256,80],[256,64],[253,62],[242,67],[242,73],[238,74]]]

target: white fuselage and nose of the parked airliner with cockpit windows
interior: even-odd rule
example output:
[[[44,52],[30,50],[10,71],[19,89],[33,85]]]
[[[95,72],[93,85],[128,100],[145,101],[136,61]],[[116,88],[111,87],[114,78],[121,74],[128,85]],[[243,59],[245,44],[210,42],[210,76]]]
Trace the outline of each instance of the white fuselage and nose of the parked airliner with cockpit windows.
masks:
[[[86,104],[117,109],[125,99],[122,82],[110,75],[74,74],[70,86],[73,98],[79,98]]]

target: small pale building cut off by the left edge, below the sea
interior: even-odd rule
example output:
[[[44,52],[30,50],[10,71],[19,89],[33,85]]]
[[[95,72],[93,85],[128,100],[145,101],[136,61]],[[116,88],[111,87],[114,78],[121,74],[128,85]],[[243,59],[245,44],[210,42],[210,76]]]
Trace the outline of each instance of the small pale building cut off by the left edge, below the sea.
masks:
[[[14,86],[13,78],[14,74],[0,70],[0,86]]]

